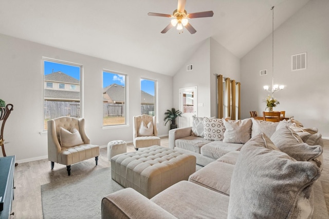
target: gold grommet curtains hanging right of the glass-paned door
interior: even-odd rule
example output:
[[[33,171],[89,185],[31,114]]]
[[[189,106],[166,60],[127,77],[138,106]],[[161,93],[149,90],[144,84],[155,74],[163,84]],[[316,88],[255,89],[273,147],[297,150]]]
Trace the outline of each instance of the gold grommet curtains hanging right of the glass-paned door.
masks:
[[[231,117],[232,120],[240,120],[241,83],[226,77],[223,87],[223,78],[223,75],[217,75],[218,118]]]

